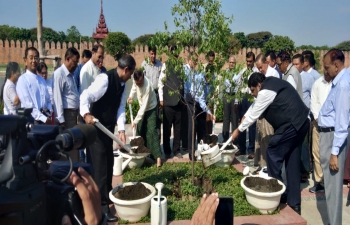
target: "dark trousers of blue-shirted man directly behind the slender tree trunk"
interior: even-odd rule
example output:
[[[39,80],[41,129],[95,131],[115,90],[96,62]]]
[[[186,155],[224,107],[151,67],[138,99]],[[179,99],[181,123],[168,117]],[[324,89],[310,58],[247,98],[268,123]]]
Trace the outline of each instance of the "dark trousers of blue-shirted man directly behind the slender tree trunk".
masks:
[[[205,120],[206,112],[203,112],[198,102],[193,101],[190,95],[187,95],[187,113],[188,113],[188,150],[192,154],[192,131],[194,132],[194,138],[197,135],[197,142],[202,140],[205,135]],[[195,108],[194,108],[195,104]],[[192,130],[192,115],[196,115],[194,120],[194,130]]]

